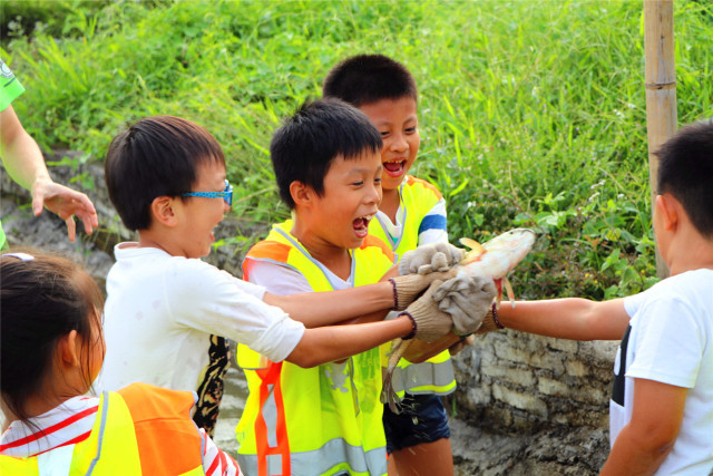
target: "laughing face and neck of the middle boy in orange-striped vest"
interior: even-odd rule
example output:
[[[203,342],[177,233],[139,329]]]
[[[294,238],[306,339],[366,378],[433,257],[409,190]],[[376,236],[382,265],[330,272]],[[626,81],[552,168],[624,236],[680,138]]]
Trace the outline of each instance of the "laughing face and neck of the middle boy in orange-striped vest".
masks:
[[[381,171],[379,152],[334,158],[324,176],[323,195],[312,191],[310,204],[299,206],[299,220],[306,225],[301,229],[312,237],[302,236],[301,242],[307,249],[320,242],[340,249],[361,246],[381,203]]]

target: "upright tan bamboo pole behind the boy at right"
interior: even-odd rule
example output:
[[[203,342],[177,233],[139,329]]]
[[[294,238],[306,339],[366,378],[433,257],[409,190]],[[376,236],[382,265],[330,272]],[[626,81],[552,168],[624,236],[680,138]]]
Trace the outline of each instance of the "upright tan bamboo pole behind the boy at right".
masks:
[[[677,125],[676,69],[673,49],[673,0],[644,0],[644,51],[646,84],[646,128],[648,135],[648,183],[651,203],[658,193],[658,158],[654,153],[673,136]],[[668,269],[656,249],[656,274]]]

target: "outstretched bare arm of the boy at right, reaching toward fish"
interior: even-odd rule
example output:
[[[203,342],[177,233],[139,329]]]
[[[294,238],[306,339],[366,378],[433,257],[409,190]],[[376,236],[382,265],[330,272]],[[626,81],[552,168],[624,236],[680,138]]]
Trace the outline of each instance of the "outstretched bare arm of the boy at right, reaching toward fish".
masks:
[[[628,326],[622,300],[579,298],[504,303],[498,320],[506,328],[574,340],[617,340]]]

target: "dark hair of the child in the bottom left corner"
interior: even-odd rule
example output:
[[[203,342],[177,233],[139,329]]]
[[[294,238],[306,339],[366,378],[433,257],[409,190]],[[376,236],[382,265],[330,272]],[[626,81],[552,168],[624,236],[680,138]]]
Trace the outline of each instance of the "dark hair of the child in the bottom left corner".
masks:
[[[41,391],[53,367],[59,339],[72,330],[80,337],[86,383],[77,389],[81,394],[91,386],[92,329],[104,342],[97,283],[70,260],[29,252],[30,261],[7,253],[0,258],[0,387],[3,405],[22,421],[29,417],[28,397]]]

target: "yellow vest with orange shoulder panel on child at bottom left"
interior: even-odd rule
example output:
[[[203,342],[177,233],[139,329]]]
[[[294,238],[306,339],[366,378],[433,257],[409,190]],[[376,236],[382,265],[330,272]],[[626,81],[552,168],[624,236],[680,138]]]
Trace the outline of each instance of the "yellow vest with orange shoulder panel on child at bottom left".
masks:
[[[0,474],[205,475],[194,401],[191,392],[146,383],[104,392],[87,439],[28,458],[0,456]]]

